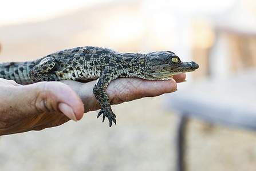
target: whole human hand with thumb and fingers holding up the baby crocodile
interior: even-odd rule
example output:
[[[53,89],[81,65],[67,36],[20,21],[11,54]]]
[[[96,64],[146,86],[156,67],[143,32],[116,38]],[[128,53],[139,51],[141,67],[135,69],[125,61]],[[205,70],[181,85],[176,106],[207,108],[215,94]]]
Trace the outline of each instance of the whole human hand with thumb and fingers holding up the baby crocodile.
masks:
[[[183,82],[185,78],[186,74],[174,76],[176,82]],[[116,79],[106,91],[111,104],[120,104],[174,92],[177,86],[174,79]],[[0,135],[56,127],[70,119],[80,120],[84,112],[100,109],[92,92],[94,84],[95,81],[65,80],[21,86],[12,80],[0,79]]]

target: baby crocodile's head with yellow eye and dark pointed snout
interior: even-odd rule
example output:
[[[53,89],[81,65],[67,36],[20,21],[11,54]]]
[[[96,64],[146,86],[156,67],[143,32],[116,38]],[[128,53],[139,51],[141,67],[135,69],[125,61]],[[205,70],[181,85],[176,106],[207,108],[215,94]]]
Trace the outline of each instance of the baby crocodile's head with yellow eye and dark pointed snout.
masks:
[[[170,79],[173,75],[195,71],[199,67],[194,61],[182,62],[171,51],[151,52],[147,56],[151,62],[148,72],[155,79]]]

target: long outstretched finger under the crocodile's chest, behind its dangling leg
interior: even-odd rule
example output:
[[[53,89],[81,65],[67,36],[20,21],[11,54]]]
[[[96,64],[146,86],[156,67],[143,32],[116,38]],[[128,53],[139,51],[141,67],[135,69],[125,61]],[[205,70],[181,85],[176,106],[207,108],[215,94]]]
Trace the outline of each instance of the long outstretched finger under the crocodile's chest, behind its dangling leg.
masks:
[[[93,95],[93,87],[96,81],[78,83],[62,81],[68,84],[78,93],[84,103],[85,112],[100,109],[100,105]],[[141,97],[159,96],[163,93],[174,92],[177,84],[174,79],[170,80],[143,80],[137,78],[122,78],[112,80],[106,89],[111,104],[120,104],[124,101],[140,99]]]

